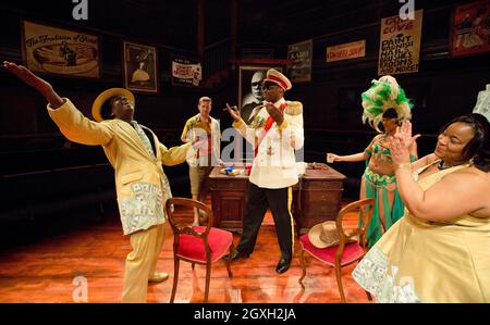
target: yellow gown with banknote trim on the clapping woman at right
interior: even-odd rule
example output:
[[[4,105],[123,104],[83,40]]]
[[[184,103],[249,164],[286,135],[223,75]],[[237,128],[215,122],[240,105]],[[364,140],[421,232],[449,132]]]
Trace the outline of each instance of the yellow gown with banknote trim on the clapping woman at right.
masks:
[[[465,167],[439,171],[418,185],[426,190]],[[353,277],[378,302],[490,302],[490,217],[427,222],[405,209]]]

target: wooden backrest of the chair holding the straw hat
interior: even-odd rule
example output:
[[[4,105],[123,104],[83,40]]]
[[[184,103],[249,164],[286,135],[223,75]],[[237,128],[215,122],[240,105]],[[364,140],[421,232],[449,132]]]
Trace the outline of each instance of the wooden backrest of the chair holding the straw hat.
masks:
[[[375,199],[363,199],[355,202],[352,202],[345,205],[339,214],[336,215],[336,230],[339,233],[339,250],[338,254],[342,255],[343,248],[345,243],[352,241],[355,238],[355,241],[359,241],[359,245],[364,248],[367,246],[366,230],[371,221],[372,211],[375,208]],[[347,213],[352,213],[355,211],[359,211],[359,220],[360,225],[358,225],[355,229],[350,232],[348,234],[344,230],[343,220]]]

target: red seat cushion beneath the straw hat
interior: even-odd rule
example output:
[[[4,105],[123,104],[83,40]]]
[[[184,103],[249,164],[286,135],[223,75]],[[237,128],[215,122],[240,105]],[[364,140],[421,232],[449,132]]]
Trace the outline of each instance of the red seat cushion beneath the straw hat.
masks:
[[[323,263],[334,266],[335,265],[335,253],[338,246],[317,248],[311,245],[308,238],[308,234],[299,237],[299,242],[305,251],[310,253],[317,260]],[[344,252],[341,259],[341,265],[346,265],[360,259],[364,255],[364,249],[358,242],[351,242],[345,245]]]

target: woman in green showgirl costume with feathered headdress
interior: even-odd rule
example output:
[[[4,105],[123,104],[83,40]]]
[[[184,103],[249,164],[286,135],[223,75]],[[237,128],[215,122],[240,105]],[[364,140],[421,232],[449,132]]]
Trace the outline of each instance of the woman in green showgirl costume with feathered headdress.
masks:
[[[377,135],[364,152],[338,155],[327,153],[328,162],[366,161],[366,170],[360,183],[360,199],[373,198],[375,211],[367,230],[368,246],[372,247],[384,229],[389,229],[402,215],[404,205],[396,190],[396,178],[388,149],[390,138],[403,121],[411,120],[413,104],[392,76],[382,76],[372,80],[371,87],[363,92],[363,122],[380,134]],[[379,126],[383,125],[384,132]],[[417,148],[411,148],[411,160],[417,158]]]

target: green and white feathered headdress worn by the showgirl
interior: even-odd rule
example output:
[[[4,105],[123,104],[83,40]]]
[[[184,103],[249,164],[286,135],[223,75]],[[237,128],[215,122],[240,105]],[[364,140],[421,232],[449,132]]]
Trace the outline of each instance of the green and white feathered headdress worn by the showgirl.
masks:
[[[412,108],[414,104],[405,96],[402,87],[392,76],[382,76],[379,80],[373,79],[371,87],[363,92],[363,123],[368,121],[369,125],[377,132],[383,120],[383,112],[394,109],[399,115],[399,121],[412,118]]]

